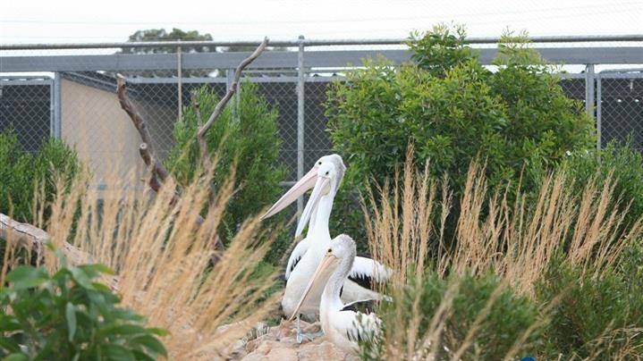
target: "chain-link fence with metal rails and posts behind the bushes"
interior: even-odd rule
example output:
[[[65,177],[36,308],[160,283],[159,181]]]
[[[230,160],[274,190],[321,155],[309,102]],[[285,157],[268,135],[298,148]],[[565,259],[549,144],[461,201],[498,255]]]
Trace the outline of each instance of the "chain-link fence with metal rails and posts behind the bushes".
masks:
[[[475,39],[474,39],[475,40]],[[472,44],[491,44],[471,41]],[[537,39],[535,39],[537,41]],[[537,46],[553,63],[567,63],[580,71],[562,73],[566,94],[586,104],[596,116],[599,146],[631,133],[634,147],[643,148],[643,72],[594,71],[595,64],[643,63],[643,47],[561,46],[568,41],[605,39],[543,38]],[[643,41],[643,38],[606,38],[610,41]],[[409,60],[401,40],[326,41],[299,40],[275,46],[290,50],[267,51],[251,64],[243,81],[258,84],[258,92],[279,110],[278,133],[283,140],[281,160],[291,171],[290,181],[321,155],[332,151],[326,133],[326,89],[343,80],[347,64],[384,55],[394,63]],[[165,49],[187,43],[164,43]],[[639,43],[637,43],[639,44]],[[232,45],[232,44],[231,44]],[[250,44],[239,44],[250,45]],[[150,44],[2,46],[0,45],[0,130],[13,127],[26,149],[38,149],[47,136],[64,139],[77,147],[92,164],[98,178],[114,171],[117,162],[125,172],[144,169],[138,147],[139,134],[114,95],[115,76],[128,81],[131,99],[148,121],[154,146],[161,156],[173,146],[173,126],[182,107],[190,105],[190,92],[207,85],[223,96],[232,84],[233,68],[247,53],[122,54],[123,46]],[[212,44],[211,49],[221,44]],[[304,51],[305,47],[305,51]],[[185,47],[183,47],[185,48]],[[480,60],[490,64],[496,49],[480,47]],[[233,102],[231,105],[233,106]],[[101,171],[102,170],[102,171]],[[288,182],[286,182],[288,183]]]

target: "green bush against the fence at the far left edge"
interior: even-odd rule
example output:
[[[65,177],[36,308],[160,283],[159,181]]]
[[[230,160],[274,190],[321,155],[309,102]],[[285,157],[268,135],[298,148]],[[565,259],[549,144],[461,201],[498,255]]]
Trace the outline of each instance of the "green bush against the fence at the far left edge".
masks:
[[[78,155],[60,139],[47,139],[38,153],[31,154],[22,149],[13,130],[0,132],[0,213],[33,222],[36,187],[44,187],[45,200],[50,202],[58,177],[69,185],[78,170]],[[47,209],[44,215],[47,220]]]

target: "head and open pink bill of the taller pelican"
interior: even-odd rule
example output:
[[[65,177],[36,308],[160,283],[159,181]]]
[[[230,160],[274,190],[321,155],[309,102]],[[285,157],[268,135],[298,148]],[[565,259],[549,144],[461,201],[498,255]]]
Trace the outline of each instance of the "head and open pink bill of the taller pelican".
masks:
[[[339,185],[342,182],[343,174],[346,172],[346,166],[343,164],[342,157],[339,155],[325,155],[317,159],[315,165],[310,171],[304,175],[291,189],[283,194],[273,206],[268,209],[261,219],[266,219],[274,214],[277,214],[286,206],[294,202],[298,197],[304,194],[307,190],[313,189],[310,195],[309,202],[304,208],[300,217],[300,222],[297,225],[295,237],[301,234],[306,223],[309,222],[310,215],[317,207],[317,203],[321,197],[337,192]]]

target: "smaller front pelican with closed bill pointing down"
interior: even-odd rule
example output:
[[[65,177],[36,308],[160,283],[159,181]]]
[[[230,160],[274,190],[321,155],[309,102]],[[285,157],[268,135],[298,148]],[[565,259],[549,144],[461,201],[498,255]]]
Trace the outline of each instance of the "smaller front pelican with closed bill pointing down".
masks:
[[[340,293],[351,273],[355,259],[355,242],[342,234],[330,242],[326,254],[317,266],[290,320],[299,315],[300,306],[309,295],[323,290],[319,303],[319,320],[322,331],[335,345],[355,350],[359,340],[373,339],[380,332],[381,321],[374,313],[357,311],[357,303],[344,305]]]

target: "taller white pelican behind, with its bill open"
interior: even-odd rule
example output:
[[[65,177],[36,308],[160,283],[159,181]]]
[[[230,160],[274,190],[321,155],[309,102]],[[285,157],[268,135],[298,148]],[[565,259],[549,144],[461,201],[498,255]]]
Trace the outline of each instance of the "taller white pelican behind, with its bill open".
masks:
[[[295,238],[298,238],[306,223],[309,222],[308,235],[292,250],[286,266],[286,290],[282,299],[282,308],[285,315],[291,315],[294,311],[303,294],[303,290],[309,283],[313,273],[315,273],[319,261],[325,255],[326,249],[331,242],[328,221],[333,208],[334,196],[345,170],[346,167],[341,156],[322,156],[312,169],[292,186],[262,217],[262,219],[265,219],[276,214],[294,202],[306,190],[313,188],[309,202],[301,214],[297,231],[295,231]],[[343,282],[343,288],[340,290],[343,300],[354,302],[382,298],[379,293],[361,287],[355,281],[385,281],[390,273],[391,271],[384,265],[372,259],[355,257],[349,280]],[[355,281],[351,281],[351,279]],[[316,320],[319,313],[320,297],[321,290],[313,291],[307,301],[300,306],[300,314],[310,320]],[[299,327],[298,339],[300,339]]]

